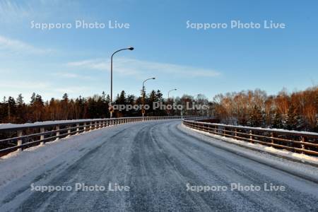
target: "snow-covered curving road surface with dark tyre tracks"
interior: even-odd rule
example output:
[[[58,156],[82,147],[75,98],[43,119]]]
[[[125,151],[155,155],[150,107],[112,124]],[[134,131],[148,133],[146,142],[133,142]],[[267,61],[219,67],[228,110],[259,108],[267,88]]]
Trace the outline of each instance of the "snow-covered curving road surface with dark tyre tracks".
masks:
[[[318,211],[317,184],[211,146],[179,124],[122,124],[1,159],[0,211]],[[64,191],[32,191],[47,186]],[[202,187],[215,191],[195,191]]]

